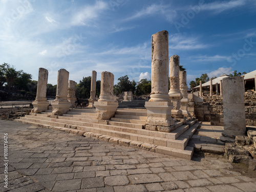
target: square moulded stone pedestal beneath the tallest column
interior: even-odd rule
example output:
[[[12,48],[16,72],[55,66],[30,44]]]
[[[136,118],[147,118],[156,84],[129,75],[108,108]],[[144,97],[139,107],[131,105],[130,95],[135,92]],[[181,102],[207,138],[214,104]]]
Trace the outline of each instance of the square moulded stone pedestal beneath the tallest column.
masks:
[[[145,108],[147,109],[146,125],[164,126],[169,127],[174,125],[174,119],[172,118],[173,105],[170,101],[147,101],[145,102]],[[146,126],[148,127],[148,126]],[[157,127],[156,127],[156,130]]]

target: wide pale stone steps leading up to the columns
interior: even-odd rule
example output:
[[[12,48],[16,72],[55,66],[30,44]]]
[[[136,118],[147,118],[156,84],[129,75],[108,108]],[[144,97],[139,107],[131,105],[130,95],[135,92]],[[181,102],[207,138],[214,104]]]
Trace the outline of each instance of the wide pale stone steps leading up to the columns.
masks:
[[[70,109],[58,118],[50,115],[51,110],[30,113],[17,121],[185,159],[191,159],[193,155],[194,147],[187,143],[200,125],[193,118],[175,119],[174,130],[170,133],[148,131],[144,129],[145,109],[117,109],[110,120],[95,119],[95,109]]]

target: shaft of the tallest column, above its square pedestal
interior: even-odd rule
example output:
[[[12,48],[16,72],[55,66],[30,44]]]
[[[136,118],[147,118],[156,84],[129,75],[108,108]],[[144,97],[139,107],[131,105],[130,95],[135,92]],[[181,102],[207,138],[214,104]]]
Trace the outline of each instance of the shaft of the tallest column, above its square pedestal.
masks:
[[[152,35],[152,91],[150,101],[168,101],[168,32]]]

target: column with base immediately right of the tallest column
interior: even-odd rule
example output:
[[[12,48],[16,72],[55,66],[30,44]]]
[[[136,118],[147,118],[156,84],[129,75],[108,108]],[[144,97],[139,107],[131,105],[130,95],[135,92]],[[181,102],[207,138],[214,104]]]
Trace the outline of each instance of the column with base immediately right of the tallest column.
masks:
[[[169,80],[170,100],[173,102],[174,108],[172,109],[173,118],[183,118],[182,111],[180,110],[180,100],[182,98],[180,92],[180,57],[173,55],[169,58]]]

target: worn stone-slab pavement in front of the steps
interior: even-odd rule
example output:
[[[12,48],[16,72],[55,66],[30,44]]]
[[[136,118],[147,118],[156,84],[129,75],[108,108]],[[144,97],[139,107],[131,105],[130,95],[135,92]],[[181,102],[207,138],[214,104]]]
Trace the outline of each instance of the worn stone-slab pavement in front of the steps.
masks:
[[[256,191],[256,179],[223,158],[184,160],[5,120],[0,135],[1,191]]]

